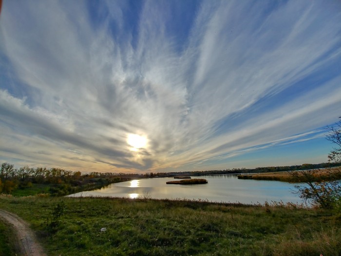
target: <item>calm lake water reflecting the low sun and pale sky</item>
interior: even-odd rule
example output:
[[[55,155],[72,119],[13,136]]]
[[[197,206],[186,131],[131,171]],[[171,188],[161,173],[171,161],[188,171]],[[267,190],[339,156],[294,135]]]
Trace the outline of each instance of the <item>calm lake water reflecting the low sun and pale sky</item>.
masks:
[[[291,193],[293,184],[280,181],[238,179],[236,175],[202,176],[208,184],[174,185],[174,178],[148,178],[113,183],[106,188],[76,193],[69,197],[148,197],[156,199],[203,199],[212,202],[265,203],[283,201],[302,203]]]

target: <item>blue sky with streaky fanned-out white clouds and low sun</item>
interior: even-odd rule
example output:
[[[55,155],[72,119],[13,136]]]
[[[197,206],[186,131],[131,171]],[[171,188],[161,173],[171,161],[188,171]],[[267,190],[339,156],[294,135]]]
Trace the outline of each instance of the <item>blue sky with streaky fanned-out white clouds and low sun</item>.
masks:
[[[4,0],[0,161],[83,172],[327,162],[337,0]]]

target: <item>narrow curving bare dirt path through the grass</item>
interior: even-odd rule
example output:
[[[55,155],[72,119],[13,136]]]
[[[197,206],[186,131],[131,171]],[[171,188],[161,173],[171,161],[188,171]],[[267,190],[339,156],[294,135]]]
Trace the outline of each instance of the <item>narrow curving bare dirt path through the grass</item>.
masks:
[[[46,256],[27,223],[17,215],[0,209],[0,218],[10,223],[18,238],[18,249],[23,256]]]

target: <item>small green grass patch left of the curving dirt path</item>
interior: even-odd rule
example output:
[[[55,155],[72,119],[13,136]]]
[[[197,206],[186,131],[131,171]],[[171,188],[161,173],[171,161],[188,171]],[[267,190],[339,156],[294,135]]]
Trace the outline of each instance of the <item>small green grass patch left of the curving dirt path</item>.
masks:
[[[15,234],[11,227],[0,219],[0,255],[15,256]]]

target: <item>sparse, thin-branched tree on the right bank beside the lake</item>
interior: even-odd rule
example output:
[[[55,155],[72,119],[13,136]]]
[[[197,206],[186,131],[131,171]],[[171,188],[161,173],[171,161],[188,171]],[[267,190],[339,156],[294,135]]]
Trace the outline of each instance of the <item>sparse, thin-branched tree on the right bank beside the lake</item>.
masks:
[[[340,117],[341,118],[341,117]],[[341,119],[333,126],[327,126],[326,139],[336,144],[328,155],[333,166],[341,163]],[[304,167],[308,167],[304,165]],[[309,166],[310,167],[310,166]],[[304,201],[311,201],[322,208],[341,208],[341,167],[327,169],[328,180],[316,181],[317,170],[294,171],[289,174],[305,185],[296,185],[296,193]]]

